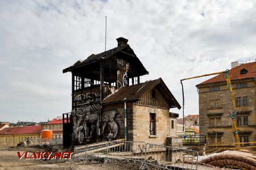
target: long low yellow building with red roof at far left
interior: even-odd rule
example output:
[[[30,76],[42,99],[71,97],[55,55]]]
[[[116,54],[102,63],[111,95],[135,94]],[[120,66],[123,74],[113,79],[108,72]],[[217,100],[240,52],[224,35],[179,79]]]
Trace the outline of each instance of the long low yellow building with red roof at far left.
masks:
[[[19,126],[0,130],[0,146],[16,146],[27,139],[35,141],[40,138],[42,126]]]

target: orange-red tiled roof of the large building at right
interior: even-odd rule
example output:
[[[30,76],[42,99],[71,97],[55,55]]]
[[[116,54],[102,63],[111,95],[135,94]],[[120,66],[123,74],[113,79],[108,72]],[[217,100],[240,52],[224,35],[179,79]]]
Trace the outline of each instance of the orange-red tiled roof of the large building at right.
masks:
[[[241,74],[240,71],[243,69],[246,69],[248,72],[246,74]],[[231,80],[254,78],[256,77],[256,62],[244,63],[242,65],[234,67],[233,69],[229,70],[229,74],[230,74]],[[214,76],[213,78],[210,78],[204,81],[203,83],[197,84],[196,87],[203,84],[217,83],[217,82],[226,82],[226,78],[224,78],[223,73],[217,76]]]

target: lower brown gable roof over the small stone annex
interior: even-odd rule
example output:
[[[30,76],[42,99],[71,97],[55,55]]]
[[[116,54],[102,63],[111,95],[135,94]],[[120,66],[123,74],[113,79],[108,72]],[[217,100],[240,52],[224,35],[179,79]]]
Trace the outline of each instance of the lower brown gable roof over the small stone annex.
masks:
[[[164,84],[162,78],[159,78],[156,80],[150,80],[144,83],[135,84],[133,86],[122,87],[114,94],[102,100],[102,104],[104,105],[104,104],[110,104],[110,103],[120,103],[124,101],[139,100],[140,97],[142,97],[148,91],[152,90],[152,88],[154,88],[158,84],[160,84],[163,87],[164,92],[166,92],[165,93],[166,95],[164,97],[166,97],[171,107],[173,108],[177,107],[178,109],[180,109],[181,108],[180,104],[177,102],[174,95],[172,95],[171,91],[168,89],[166,84]]]

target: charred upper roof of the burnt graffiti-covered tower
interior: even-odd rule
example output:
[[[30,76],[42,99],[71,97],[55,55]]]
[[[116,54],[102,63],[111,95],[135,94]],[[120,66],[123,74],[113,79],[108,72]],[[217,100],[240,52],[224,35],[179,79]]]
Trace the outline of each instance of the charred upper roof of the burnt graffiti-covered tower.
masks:
[[[67,73],[68,71],[72,71],[73,69],[76,69],[76,68],[81,67],[81,66],[88,65],[88,64],[93,63],[93,62],[97,62],[97,61],[101,61],[101,60],[104,60],[104,59],[108,59],[109,57],[114,56],[114,54],[116,54],[118,52],[121,52],[121,50],[123,50],[125,48],[129,49],[129,52],[130,52],[131,56],[134,56],[137,59],[138,63],[141,65],[142,70],[144,71],[144,74],[148,74],[148,71],[145,69],[145,67],[143,66],[142,62],[136,56],[136,54],[134,53],[133,49],[130,48],[129,44],[120,45],[120,46],[117,46],[117,47],[115,47],[113,49],[107,50],[107,51],[99,53],[99,54],[91,54],[84,61],[79,60],[74,65],[64,69],[63,73]]]

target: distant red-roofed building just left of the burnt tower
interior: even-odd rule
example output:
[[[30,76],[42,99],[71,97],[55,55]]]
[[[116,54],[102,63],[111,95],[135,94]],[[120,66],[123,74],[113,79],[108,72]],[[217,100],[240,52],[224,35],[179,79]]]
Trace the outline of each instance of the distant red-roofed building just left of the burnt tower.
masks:
[[[67,122],[67,119],[65,119]],[[52,138],[63,138],[63,119],[62,117],[53,118],[47,124],[42,125],[43,130],[52,130]]]

